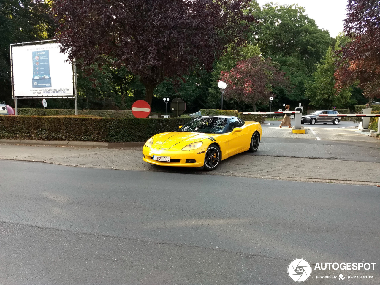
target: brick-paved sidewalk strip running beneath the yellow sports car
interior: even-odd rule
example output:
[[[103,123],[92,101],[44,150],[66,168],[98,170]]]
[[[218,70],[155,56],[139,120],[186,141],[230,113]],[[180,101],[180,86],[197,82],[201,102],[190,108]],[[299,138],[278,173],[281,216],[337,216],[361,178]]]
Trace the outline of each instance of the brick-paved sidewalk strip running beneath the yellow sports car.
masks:
[[[97,149],[0,144],[0,159],[40,161],[59,165],[121,170],[204,173],[184,168],[159,167],[142,161],[141,148]],[[314,158],[235,155],[207,174],[271,179],[380,184],[380,163]]]

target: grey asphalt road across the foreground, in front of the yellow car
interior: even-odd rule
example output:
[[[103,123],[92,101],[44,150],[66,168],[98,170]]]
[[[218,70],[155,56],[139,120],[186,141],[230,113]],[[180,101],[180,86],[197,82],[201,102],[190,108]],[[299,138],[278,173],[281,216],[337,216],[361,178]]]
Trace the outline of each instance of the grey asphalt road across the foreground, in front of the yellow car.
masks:
[[[0,284],[295,284],[299,257],[380,283],[377,187],[0,163]]]

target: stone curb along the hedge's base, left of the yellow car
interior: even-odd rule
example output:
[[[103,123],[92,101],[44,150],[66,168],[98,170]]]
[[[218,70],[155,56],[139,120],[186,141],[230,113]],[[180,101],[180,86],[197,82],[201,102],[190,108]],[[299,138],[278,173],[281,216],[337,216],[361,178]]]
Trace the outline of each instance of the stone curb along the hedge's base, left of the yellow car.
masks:
[[[142,147],[145,142],[98,142],[98,141],[37,141],[31,139],[0,139],[0,144],[23,144],[27,146],[70,146],[70,147]]]

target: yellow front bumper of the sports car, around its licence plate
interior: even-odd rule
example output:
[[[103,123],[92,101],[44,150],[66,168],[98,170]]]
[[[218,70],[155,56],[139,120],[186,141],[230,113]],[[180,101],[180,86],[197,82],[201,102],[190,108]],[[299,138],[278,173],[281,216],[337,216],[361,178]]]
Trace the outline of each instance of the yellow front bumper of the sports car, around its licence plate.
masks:
[[[142,148],[142,154],[144,157],[142,160],[160,166],[177,166],[177,167],[201,167],[204,165],[204,151],[205,149],[199,148],[195,150],[180,150],[180,151],[168,151],[168,150],[155,150],[150,149],[150,147],[144,146]],[[203,152],[198,154],[199,152]],[[158,161],[153,160],[152,156],[168,156],[170,157],[170,162],[168,161]],[[186,163],[187,159],[194,159],[194,163]],[[172,161],[174,160],[174,161]]]

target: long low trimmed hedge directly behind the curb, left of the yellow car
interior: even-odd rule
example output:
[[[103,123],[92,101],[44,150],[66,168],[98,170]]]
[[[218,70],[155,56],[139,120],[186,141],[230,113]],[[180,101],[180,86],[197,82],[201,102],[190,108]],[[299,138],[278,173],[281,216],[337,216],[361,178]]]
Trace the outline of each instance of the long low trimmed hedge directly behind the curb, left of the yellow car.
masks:
[[[176,131],[191,118],[138,119],[0,116],[0,138],[44,141],[142,142]]]

